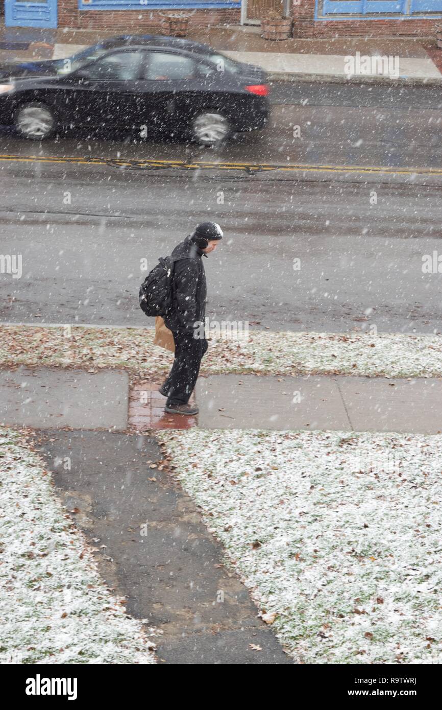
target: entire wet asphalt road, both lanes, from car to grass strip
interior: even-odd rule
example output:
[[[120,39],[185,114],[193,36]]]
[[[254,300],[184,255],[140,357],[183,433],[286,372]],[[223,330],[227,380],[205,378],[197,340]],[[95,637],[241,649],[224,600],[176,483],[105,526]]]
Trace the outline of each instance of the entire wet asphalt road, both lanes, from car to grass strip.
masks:
[[[0,136],[0,253],[23,268],[0,274],[0,320],[151,325],[141,260],[152,268],[214,219],[226,239],[205,260],[213,320],[441,332],[441,275],[421,268],[441,249],[440,89],[279,84],[274,101],[262,134],[220,151]],[[280,169],[254,172],[266,165]]]

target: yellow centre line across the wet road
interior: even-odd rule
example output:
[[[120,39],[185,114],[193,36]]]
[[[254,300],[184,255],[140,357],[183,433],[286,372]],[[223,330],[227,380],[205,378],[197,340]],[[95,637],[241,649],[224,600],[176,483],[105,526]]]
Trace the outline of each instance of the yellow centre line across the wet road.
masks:
[[[187,163],[185,160],[143,160],[136,158],[80,158],[76,156],[56,155],[8,155],[0,154],[0,161],[17,163],[66,163],[74,165],[113,165],[121,168],[181,168],[184,170],[247,170],[250,173],[278,170],[282,173],[295,171],[327,173],[388,173],[389,175],[434,175],[441,176],[442,168],[391,168],[382,165],[304,165],[302,163],[285,163],[284,165],[272,163],[213,163],[206,160]]]

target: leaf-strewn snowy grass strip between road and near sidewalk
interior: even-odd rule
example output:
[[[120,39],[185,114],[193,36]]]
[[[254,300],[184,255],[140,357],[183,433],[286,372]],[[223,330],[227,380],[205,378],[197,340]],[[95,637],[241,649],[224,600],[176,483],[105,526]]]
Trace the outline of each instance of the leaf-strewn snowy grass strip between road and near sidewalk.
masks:
[[[157,377],[173,355],[145,328],[0,326],[0,366],[127,368]],[[442,337],[380,333],[250,332],[250,342],[211,341],[201,374],[308,373],[442,376]]]

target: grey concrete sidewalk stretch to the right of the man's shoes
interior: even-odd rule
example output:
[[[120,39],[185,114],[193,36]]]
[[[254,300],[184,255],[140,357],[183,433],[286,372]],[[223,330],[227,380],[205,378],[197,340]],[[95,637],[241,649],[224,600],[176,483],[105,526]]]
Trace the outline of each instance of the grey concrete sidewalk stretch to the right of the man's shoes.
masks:
[[[201,429],[442,432],[442,379],[200,377]]]

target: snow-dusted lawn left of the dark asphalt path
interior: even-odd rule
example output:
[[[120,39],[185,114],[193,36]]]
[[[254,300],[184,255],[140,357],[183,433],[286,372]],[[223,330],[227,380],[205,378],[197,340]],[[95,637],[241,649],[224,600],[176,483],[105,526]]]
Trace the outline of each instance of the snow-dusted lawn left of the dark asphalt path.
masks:
[[[1,662],[155,663],[153,643],[99,576],[43,461],[0,427]]]

